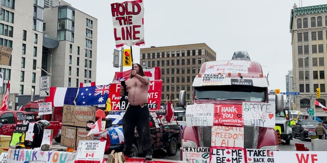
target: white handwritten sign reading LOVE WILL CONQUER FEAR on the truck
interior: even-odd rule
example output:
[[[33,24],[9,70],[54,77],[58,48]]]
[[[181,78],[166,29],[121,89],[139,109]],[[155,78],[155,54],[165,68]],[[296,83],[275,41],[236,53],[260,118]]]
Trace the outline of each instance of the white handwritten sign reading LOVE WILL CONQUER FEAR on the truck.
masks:
[[[186,106],[185,119],[188,126],[212,126],[214,104],[193,104]]]

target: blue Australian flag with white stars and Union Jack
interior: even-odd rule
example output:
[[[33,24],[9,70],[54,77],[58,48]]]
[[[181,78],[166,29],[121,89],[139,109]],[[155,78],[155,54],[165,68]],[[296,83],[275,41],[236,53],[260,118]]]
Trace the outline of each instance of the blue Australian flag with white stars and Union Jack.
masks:
[[[110,85],[79,88],[76,105],[105,104],[109,95]]]

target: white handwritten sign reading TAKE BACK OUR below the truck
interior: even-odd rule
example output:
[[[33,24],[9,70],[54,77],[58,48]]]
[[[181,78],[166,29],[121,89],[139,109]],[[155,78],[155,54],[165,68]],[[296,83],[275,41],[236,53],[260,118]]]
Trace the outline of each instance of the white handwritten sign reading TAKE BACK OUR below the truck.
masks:
[[[246,159],[248,163],[265,163],[274,162],[274,153],[269,149],[246,149]]]

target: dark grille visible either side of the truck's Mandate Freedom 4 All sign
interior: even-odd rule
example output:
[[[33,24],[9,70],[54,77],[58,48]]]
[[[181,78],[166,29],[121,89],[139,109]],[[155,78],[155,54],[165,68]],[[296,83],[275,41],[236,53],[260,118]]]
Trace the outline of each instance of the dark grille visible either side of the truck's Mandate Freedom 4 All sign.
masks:
[[[198,126],[198,135],[200,147],[211,147],[211,126]],[[258,126],[244,126],[244,148],[255,149],[258,137]]]

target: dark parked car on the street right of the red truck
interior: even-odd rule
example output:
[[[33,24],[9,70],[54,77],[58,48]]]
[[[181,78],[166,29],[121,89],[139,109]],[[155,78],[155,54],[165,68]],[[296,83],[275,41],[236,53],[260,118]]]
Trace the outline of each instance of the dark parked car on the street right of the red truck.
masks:
[[[317,139],[315,128],[318,125],[318,121],[299,119],[295,125],[292,126],[293,138],[300,137],[301,141],[306,139]]]

